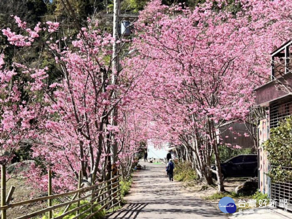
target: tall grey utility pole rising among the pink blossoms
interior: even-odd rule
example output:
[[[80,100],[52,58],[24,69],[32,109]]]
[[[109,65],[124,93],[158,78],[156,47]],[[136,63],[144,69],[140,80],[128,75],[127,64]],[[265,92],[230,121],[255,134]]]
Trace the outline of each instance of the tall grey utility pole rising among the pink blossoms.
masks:
[[[120,0],[113,0],[113,38],[114,38],[114,43],[113,43],[113,62],[112,62],[112,84],[116,84],[116,75],[117,72],[119,71],[119,57],[118,57],[118,44],[116,41],[118,40],[119,36],[119,16],[120,16]],[[114,94],[113,96],[115,96]],[[117,108],[115,107],[111,113],[111,124],[116,126],[117,121],[116,118],[118,115]],[[110,147],[110,152],[111,152],[111,164],[112,164],[112,172],[113,176],[117,174],[116,171],[116,162],[118,161],[117,158],[117,153],[118,153],[118,144],[117,141],[115,140],[115,135],[112,135],[113,137],[113,142]]]

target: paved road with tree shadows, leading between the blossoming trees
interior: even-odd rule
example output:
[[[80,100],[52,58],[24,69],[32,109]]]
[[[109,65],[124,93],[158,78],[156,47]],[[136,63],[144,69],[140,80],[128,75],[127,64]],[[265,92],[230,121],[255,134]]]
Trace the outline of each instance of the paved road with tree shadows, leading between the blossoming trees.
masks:
[[[218,208],[182,190],[180,182],[169,182],[165,165],[146,165],[134,173],[127,204],[108,219],[200,219],[226,218]]]

